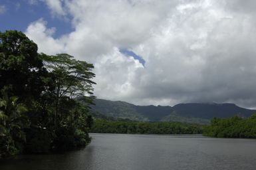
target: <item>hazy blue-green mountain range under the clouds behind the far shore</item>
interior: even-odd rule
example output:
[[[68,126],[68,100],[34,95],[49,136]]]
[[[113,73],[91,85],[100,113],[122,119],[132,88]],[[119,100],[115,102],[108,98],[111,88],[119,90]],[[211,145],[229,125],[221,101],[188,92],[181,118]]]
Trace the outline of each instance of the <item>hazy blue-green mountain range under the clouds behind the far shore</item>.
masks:
[[[235,104],[190,103],[176,106],[136,106],[127,102],[96,99],[91,106],[95,115],[114,119],[144,122],[187,122],[208,124],[211,118],[227,118],[233,115],[249,117],[256,110],[241,108]]]

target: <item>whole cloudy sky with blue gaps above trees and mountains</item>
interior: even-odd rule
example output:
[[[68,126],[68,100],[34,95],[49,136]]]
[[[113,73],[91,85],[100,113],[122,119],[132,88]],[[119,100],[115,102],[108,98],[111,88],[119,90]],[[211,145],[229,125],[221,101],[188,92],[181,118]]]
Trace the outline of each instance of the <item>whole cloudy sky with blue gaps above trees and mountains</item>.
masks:
[[[256,108],[256,1],[0,0],[0,31],[94,64],[94,95]]]

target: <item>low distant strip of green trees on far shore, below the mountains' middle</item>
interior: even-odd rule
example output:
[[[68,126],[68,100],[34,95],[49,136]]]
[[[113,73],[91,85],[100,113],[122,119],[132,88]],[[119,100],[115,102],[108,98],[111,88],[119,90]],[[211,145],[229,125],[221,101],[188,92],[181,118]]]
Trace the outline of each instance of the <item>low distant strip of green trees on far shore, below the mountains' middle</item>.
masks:
[[[154,134],[198,134],[203,125],[182,124],[180,122],[128,122],[94,120],[92,133],[154,133]]]

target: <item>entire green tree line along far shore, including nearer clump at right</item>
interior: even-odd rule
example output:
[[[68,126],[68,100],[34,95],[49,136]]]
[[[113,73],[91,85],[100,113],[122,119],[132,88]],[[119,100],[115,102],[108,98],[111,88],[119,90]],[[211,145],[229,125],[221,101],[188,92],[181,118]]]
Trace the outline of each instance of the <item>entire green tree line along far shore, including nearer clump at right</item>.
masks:
[[[209,137],[256,138],[256,114],[249,118],[231,116],[213,118],[211,124],[184,124],[181,122],[132,122],[98,118],[90,129],[92,133],[145,134],[203,134]]]

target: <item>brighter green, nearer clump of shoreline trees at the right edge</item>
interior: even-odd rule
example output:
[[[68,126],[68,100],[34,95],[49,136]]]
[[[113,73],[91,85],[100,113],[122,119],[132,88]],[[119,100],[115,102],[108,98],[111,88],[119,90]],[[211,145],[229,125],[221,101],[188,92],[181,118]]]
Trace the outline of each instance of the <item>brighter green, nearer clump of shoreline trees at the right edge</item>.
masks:
[[[249,118],[213,118],[203,134],[211,137],[256,138],[256,114]]]

